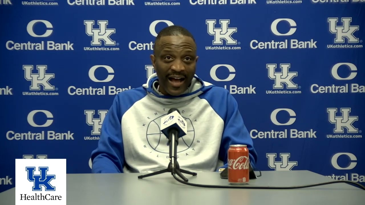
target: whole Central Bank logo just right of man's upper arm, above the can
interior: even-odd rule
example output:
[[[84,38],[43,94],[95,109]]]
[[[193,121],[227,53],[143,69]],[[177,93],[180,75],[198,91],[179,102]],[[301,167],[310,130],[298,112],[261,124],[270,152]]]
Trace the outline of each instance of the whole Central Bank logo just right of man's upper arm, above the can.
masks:
[[[309,131],[300,131],[295,129],[293,124],[297,119],[295,111],[290,108],[277,108],[274,109],[270,114],[271,122],[280,126],[281,131],[277,131],[276,128],[269,131],[258,131],[257,129],[252,129],[250,131],[250,136],[252,139],[286,139],[286,138],[298,138],[298,139],[314,139],[317,138],[316,132],[313,129]],[[290,127],[288,127],[290,126]]]

